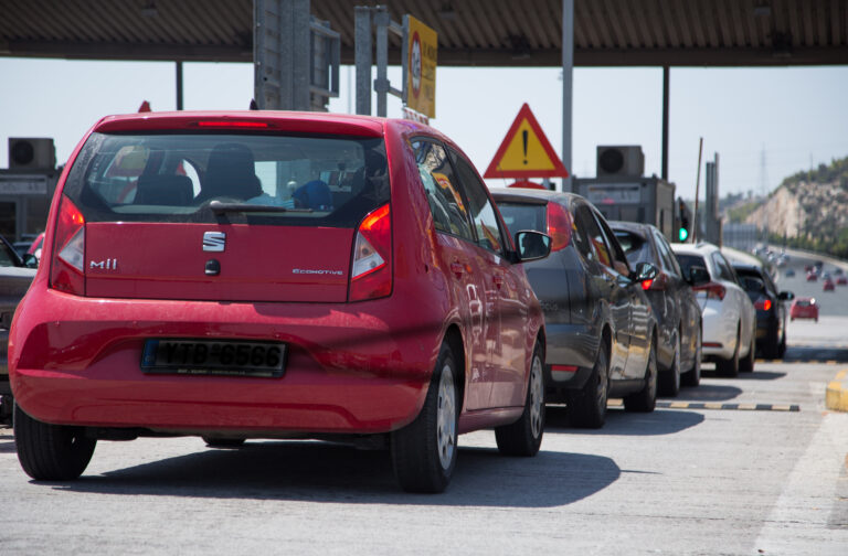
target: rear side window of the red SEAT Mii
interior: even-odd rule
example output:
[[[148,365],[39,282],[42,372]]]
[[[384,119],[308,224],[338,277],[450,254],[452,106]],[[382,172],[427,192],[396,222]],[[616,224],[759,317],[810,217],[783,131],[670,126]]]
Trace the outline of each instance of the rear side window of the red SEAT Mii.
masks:
[[[433,141],[417,139],[412,141],[412,150],[421,183],[427,193],[435,228],[474,242],[468,211],[445,148]]]

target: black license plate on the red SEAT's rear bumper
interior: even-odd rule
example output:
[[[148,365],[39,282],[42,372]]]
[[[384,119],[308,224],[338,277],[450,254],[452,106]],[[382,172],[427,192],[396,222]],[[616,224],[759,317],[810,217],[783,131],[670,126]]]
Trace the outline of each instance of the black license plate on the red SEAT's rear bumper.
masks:
[[[156,339],[145,342],[145,373],[283,376],[286,344],[221,340]]]

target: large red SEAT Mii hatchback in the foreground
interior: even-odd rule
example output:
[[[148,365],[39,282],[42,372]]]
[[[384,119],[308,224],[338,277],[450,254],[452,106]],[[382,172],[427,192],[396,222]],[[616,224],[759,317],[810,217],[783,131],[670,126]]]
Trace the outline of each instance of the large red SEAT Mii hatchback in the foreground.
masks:
[[[68,480],[97,439],[377,441],[402,488],[438,492],[459,432],[533,456],[545,334],[521,263],[549,253],[420,124],[104,118],[12,327],[19,459]]]

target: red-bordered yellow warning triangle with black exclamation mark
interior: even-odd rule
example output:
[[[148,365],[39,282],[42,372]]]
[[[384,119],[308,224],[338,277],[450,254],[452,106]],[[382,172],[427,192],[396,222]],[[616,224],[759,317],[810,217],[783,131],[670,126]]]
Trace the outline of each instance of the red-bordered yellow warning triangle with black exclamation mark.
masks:
[[[568,178],[527,103],[516,116],[484,178]]]

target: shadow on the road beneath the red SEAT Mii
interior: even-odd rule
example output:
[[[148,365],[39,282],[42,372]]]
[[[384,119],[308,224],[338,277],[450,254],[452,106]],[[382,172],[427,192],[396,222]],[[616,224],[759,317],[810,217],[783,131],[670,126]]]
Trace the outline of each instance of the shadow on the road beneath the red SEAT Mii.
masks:
[[[416,495],[398,488],[388,451],[253,441],[237,450],[208,449],[74,482],[41,484],[118,495],[551,507],[592,495],[619,475],[612,459],[598,456],[542,450],[536,458],[509,458],[496,449],[460,447],[447,492]]]

